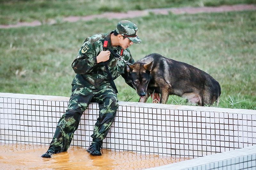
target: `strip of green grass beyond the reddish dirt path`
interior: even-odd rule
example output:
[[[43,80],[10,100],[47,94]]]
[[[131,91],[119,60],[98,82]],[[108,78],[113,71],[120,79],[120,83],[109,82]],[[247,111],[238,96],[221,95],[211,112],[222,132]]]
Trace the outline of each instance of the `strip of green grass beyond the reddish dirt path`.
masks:
[[[256,0],[0,0],[0,24],[148,8],[256,4]]]

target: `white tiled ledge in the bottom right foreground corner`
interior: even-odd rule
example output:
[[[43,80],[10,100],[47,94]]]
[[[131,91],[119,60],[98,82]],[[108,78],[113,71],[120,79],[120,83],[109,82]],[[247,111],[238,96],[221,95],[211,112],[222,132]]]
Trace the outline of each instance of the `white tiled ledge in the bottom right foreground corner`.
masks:
[[[256,146],[190,159],[147,170],[255,170]]]

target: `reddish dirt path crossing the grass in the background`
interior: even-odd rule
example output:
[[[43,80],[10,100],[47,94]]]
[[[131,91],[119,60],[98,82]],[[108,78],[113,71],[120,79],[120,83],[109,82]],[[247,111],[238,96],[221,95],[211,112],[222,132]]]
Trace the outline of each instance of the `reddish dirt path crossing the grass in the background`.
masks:
[[[98,15],[88,15],[88,16],[69,16],[63,18],[62,21],[64,22],[76,22],[79,20],[82,21],[89,21],[94,18],[134,18],[134,17],[142,17],[149,14],[149,12],[153,12],[154,14],[163,14],[167,15],[169,12],[173,14],[195,14],[195,13],[202,13],[202,12],[225,12],[225,11],[244,11],[244,10],[256,10],[256,5],[247,5],[247,4],[240,4],[240,5],[223,5],[219,7],[184,7],[184,8],[160,8],[160,9],[148,9],[142,11],[128,11],[128,12],[106,12]],[[41,23],[40,21],[33,21],[33,22],[19,22],[13,25],[0,25],[0,28],[13,28],[13,27],[20,27],[20,26],[40,26],[42,24],[55,24],[57,21],[54,19],[49,20],[47,23]]]

